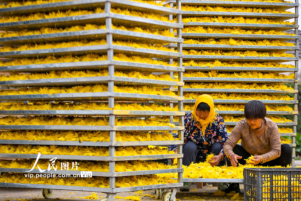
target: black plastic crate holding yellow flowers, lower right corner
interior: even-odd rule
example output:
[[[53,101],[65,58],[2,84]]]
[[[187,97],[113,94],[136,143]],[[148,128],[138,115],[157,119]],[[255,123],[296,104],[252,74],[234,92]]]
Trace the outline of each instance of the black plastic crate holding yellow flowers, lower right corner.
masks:
[[[245,201],[301,201],[301,168],[244,168]]]

